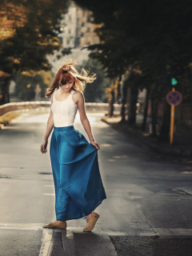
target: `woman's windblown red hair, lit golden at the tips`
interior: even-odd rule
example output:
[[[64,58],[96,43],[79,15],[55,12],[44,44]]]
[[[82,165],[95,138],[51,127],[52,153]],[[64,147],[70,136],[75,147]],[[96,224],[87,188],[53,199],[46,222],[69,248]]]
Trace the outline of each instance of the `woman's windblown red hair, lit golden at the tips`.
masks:
[[[71,78],[74,78],[74,90],[79,90],[83,92],[86,88],[86,83],[94,82],[96,79],[96,74],[90,74],[89,71],[82,68],[79,73],[78,70],[74,68],[74,65],[78,65],[77,60],[72,60],[71,58],[66,60],[66,63],[58,70],[57,74],[54,77],[54,80],[50,87],[46,89],[45,97],[47,98],[54,93],[55,88],[58,88],[60,84],[65,85],[66,82],[69,82]]]

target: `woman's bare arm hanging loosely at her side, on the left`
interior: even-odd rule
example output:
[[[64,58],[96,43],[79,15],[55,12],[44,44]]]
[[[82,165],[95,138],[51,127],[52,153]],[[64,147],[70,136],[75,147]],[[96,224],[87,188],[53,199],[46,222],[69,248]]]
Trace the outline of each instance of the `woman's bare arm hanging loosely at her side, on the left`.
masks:
[[[53,94],[51,94],[51,104],[50,106],[53,104]],[[46,134],[43,138],[43,141],[42,141],[42,145],[40,146],[40,150],[42,152],[42,154],[46,153],[46,146],[47,146],[47,143],[48,143],[48,138],[50,137],[50,133],[51,133],[51,130],[53,129],[54,127],[54,113],[52,112],[51,108],[50,108],[50,117],[48,118],[48,121],[47,121],[47,125],[46,125]]]

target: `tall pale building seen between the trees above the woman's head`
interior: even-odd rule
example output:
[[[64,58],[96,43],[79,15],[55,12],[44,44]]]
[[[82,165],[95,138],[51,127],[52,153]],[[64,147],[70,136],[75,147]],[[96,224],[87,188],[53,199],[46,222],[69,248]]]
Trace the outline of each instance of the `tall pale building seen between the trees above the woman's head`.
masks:
[[[67,14],[63,14],[60,29],[62,32],[58,34],[62,49],[47,56],[52,65],[53,74],[68,58],[77,59],[79,65],[82,65],[82,62],[89,58],[90,51],[82,50],[82,48],[99,43],[98,35],[94,32],[97,26],[91,22],[92,20],[89,10],[83,10],[71,1]],[[61,54],[64,48],[70,48],[71,54],[58,59],[57,55]]]

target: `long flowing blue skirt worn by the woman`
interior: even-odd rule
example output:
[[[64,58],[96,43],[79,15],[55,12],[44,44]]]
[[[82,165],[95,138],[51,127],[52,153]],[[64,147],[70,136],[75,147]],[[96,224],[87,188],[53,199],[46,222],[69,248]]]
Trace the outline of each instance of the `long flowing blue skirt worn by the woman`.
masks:
[[[106,199],[98,166],[98,150],[74,126],[54,126],[50,161],[57,220],[83,218]]]

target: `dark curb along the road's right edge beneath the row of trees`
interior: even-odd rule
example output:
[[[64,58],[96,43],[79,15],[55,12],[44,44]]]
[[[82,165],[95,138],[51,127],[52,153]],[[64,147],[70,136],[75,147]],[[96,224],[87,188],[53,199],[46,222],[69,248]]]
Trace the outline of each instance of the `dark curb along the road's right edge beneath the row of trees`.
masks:
[[[112,128],[117,128],[117,126],[113,126],[116,125],[115,123],[110,123],[107,122],[105,118],[101,119],[102,122],[106,122],[106,124],[108,124],[109,126],[111,126]],[[116,129],[117,130],[117,129]],[[147,139],[143,138],[143,136],[141,134],[138,134],[137,131],[135,132],[131,132],[130,130],[127,130],[126,133],[130,134],[132,136],[132,138],[136,138],[137,140],[139,140],[139,145],[142,147],[148,147],[151,150],[154,150],[157,153],[161,153],[161,154],[170,154],[170,155],[180,155],[180,156],[186,156],[186,157],[191,157],[192,156],[192,151],[191,150],[180,150],[180,149],[162,149],[162,147],[159,147],[158,145],[154,144],[153,142],[149,142]]]

